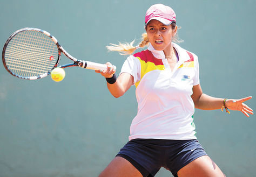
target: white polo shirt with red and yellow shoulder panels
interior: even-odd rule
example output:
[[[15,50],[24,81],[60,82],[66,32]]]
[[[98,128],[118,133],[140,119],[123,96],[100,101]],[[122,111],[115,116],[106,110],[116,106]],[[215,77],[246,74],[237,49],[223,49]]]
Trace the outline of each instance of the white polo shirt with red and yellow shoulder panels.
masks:
[[[192,87],[199,84],[197,55],[172,44],[179,61],[173,71],[163,51],[152,45],[129,56],[121,73],[134,78],[138,112],[130,127],[129,140],[196,139],[193,123]]]

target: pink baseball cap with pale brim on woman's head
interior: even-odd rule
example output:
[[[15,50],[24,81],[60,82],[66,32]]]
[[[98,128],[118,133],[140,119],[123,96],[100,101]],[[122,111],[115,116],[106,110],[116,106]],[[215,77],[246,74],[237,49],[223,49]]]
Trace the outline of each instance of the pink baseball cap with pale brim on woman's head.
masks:
[[[158,20],[159,22],[168,26],[172,22],[176,22],[176,14],[169,6],[163,4],[154,4],[147,9],[145,17],[146,25],[152,19]]]

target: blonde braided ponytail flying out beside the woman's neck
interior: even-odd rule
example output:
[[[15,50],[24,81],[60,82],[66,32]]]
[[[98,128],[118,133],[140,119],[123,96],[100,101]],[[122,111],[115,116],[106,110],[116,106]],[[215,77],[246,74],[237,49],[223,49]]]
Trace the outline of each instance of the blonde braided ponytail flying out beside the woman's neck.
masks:
[[[145,46],[149,45],[149,38],[147,38],[147,33],[142,34],[142,41],[140,42],[139,45],[133,46],[134,40],[129,44],[129,43],[119,43],[117,44],[110,44],[111,46],[106,46],[106,48],[109,51],[116,51],[119,52],[120,55],[131,55],[136,49],[138,48],[143,48]]]

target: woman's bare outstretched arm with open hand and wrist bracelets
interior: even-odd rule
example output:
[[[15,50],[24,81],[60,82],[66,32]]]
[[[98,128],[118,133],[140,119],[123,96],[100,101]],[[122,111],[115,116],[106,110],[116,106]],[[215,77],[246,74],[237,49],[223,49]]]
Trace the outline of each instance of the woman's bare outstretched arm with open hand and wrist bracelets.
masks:
[[[194,107],[203,110],[214,110],[223,108],[224,98],[215,98],[203,93],[200,84],[193,86],[193,94],[191,95]],[[241,98],[239,100],[227,99],[224,107],[230,110],[241,111],[245,116],[253,115],[253,110],[244,102],[252,97]]]

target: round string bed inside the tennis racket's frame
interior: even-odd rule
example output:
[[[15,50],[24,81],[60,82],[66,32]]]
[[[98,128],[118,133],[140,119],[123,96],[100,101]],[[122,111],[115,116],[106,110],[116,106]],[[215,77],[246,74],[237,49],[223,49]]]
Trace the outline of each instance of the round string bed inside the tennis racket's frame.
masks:
[[[5,50],[5,62],[16,75],[31,77],[47,73],[55,66],[58,48],[44,33],[26,30],[13,37]]]

